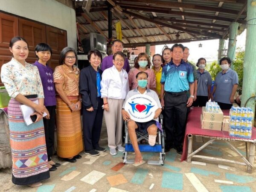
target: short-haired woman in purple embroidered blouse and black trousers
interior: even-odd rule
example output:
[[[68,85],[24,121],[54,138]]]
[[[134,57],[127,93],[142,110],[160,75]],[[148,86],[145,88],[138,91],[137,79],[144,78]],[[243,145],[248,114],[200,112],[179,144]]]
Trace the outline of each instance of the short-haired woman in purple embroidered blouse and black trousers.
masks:
[[[53,83],[53,70],[48,66],[47,62],[51,58],[52,48],[45,43],[40,43],[35,47],[35,55],[38,61],[35,61],[34,65],[38,67],[44,89],[44,106],[49,111],[49,116],[47,115],[43,119],[49,171],[55,171],[57,170],[56,167],[61,164],[55,163],[51,159],[54,144],[56,97]]]

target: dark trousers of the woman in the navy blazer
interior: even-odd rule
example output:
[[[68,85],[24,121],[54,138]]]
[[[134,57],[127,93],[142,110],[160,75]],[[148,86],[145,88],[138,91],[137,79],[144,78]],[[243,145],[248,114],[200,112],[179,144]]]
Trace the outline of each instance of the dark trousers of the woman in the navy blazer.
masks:
[[[99,137],[102,128],[103,100],[98,97],[98,108],[87,111],[83,108],[84,150],[89,151],[99,146]]]

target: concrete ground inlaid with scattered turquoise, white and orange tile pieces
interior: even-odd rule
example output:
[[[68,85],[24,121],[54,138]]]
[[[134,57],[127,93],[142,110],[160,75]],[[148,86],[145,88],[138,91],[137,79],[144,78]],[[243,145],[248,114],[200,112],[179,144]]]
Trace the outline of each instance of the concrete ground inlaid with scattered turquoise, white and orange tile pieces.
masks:
[[[200,137],[201,138],[201,137]],[[194,140],[198,148],[207,140]],[[100,145],[107,147],[107,131],[102,127]],[[245,154],[244,143],[233,143]],[[83,152],[76,163],[67,163],[53,156],[55,162],[61,163],[57,171],[50,172],[50,178],[44,180],[37,188],[17,186],[12,183],[12,170],[0,169],[0,191],[4,192],[137,192],[137,191],[209,191],[209,192],[253,192],[256,191],[256,170],[253,174],[246,172],[245,166],[222,164],[218,162],[192,159],[197,164],[180,162],[180,154],[174,149],[166,153],[164,166],[143,163],[139,166],[122,164],[122,153],[116,156],[107,150],[100,157],[88,157]],[[234,160],[241,159],[223,141],[214,142],[200,154],[212,155]],[[157,160],[158,153],[143,153],[143,160]],[[134,154],[129,154],[130,159]],[[203,163],[202,163],[203,162]],[[217,183],[224,182],[224,183]]]

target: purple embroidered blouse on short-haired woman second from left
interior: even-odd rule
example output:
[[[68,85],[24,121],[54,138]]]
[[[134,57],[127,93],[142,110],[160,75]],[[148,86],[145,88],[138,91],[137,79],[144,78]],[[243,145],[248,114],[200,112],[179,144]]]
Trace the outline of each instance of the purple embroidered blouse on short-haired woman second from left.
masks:
[[[43,84],[44,105],[45,106],[56,105],[55,88],[54,88],[53,75],[52,75],[53,70],[48,66],[44,66],[38,61],[35,61],[34,65],[38,67],[41,81]]]

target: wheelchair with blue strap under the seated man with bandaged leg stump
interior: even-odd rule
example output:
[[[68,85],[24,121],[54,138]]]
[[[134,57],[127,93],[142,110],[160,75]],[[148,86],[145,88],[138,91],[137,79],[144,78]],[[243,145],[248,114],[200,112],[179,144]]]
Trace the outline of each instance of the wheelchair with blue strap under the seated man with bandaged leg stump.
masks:
[[[148,164],[151,165],[164,165],[164,160],[166,157],[165,149],[164,149],[164,132],[163,132],[163,115],[160,114],[159,122],[162,127],[162,130],[157,128],[157,138],[156,144],[154,146],[150,146],[148,144],[148,132],[147,130],[141,132],[136,130],[137,142],[141,140],[146,140],[147,144],[139,144],[140,152],[155,152],[159,153],[159,160],[148,160]],[[122,154],[123,163],[133,164],[134,160],[128,160],[128,152],[134,152],[134,148],[129,140],[128,127],[127,122],[125,122],[125,150]]]

